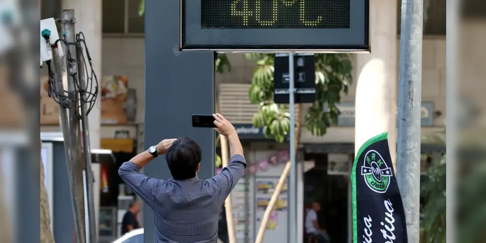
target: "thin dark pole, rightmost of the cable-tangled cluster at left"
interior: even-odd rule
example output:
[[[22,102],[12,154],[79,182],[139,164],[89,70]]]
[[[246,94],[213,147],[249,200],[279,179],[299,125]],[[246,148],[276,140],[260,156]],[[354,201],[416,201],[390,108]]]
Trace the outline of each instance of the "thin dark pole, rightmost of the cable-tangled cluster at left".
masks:
[[[86,66],[85,66],[85,59],[83,55],[83,47],[81,47],[81,43],[77,43],[76,45],[76,54],[78,57],[78,78],[79,78],[79,86],[81,89],[80,99],[81,99],[81,126],[83,131],[83,154],[85,159],[85,173],[86,176],[84,177],[84,182],[86,186],[86,201],[87,201],[87,227],[86,227],[86,234],[87,239],[89,242],[87,243],[98,243],[97,233],[96,233],[96,218],[95,218],[95,211],[94,211],[94,190],[93,190],[93,170],[91,169],[91,150],[89,146],[89,126],[88,126],[88,119],[87,119],[87,109],[88,104],[86,103],[88,100],[89,94],[87,94],[87,81],[86,81]]]

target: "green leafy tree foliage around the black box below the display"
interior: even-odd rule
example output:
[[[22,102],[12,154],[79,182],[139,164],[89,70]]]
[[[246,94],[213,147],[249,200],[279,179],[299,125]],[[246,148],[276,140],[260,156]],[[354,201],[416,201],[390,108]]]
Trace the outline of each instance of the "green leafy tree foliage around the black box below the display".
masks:
[[[253,118],[253,125],[263,128],[266,137],[283,142],[290,132],[290,113],[289,105],[275,104],[273,101],[274,55],[250,53],[247,57],[256,60],[248,92],[250,102],[260,106]],[[315,70],[316,100],[307,109],[304,124],[312,135],[323,136],[331,125],[337,123],[340,112],[336,105],[341,102],[341,94],[347,94],[352,83],[350,54],[315,54]],[[304,112],[300,114],[303,116]],[[295,119],[296,123],[301,120],[300,117]]]

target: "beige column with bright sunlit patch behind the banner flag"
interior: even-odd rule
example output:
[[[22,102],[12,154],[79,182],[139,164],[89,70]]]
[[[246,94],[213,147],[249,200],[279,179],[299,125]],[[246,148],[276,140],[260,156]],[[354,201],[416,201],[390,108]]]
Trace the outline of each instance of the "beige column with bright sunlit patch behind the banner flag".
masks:
[[[370,4],[370,54],[357,54],[355,153],[368,139],[388,132],[392,163],[397,159],[397,4]]]

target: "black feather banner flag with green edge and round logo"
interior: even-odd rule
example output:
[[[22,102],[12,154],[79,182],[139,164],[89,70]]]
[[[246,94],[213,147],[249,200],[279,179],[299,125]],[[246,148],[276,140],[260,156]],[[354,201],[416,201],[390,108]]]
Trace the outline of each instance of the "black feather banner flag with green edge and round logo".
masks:
[[[393,171],[388,133],[361,146],[351,172],[353,243],[407,243],[407,226]]]

